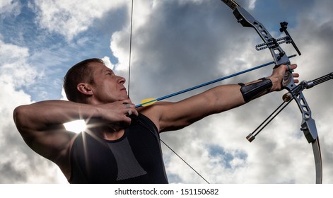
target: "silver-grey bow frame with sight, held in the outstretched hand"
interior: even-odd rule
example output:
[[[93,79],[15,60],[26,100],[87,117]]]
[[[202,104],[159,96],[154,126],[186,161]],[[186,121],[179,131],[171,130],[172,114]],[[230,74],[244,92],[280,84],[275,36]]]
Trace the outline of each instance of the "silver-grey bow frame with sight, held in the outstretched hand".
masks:
[[[280,66],[281,64],[290,64],[286,52],[284,52],[284,50],[282,50],[282,48],[279,45],[283,42],[279,42],[279,40],[285,40],[287,43],[293,44],[293,47],[295,47],[298,54],[300,54],[295,43],[293,42],[290,35],[286,31],[286,25],[288,23],[286,22],[280,23],[281,24],[280,31],[281,32],[284,31],[284,33],[286,33],[287,36],[281,39],[275,39],[274,37],[271,36],[271,34],[269,34],[269,31],[266,28],[264,28],[264,25],[262,25],[262,23],[253,18],[250,15],[250,13],[245,11],[245,9],[242,8],[236,1],[234,0],[221,0],[221,1],[223,1],[227,6],[229,6],[233,10],[233,14],[235,15],[235,18],[237,18],[238,23],[240,23],[244,27],[255,28],[259,36],[264,41],[263,44],[257,45],[256,49],[263,50],[268,48],[269,51],[271,52],[271,56],[273,57],[276,66]],[[293,89],[297,87],[293,81],[293,74],[291,72],[292,71],[286,71],[286,74],[284,75],[284,79],[282,81],[282,85],[289,92],[293,91]],[[315,120],[313,120],[311,117],[310,107],[306,102],[302,91],[298,91],[297,94],[293,95],[292,99],[295,99],[300,109],[300,112],[302,113],[303,120],[301,124],[301,130],[304,132],[305,138],[308,140],[308,142],[312,143],[312,150],[315,156],[316,183],[321,183],[322,158],[320,153],[320,143],[317,134],[317,127],[315,126]]]

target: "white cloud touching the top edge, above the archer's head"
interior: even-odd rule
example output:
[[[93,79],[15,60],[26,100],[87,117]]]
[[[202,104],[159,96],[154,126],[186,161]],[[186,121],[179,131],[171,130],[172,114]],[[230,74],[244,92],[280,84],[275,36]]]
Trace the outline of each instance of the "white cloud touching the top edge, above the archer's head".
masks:
[[[124,1],[35,1],[37,23],[51,32],[71,40],[87,30],[96,18],[101,18],[110,9],[124,6]]]

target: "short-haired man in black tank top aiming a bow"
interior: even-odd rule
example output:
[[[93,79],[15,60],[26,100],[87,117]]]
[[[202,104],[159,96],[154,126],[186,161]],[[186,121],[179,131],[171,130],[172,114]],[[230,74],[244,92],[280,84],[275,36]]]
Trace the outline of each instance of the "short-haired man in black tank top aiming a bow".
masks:
[[[296,64],[290,67],[296,69]],[[177,103],[158,102],[136,109],[124,88],[125,79],[102,60],[87,59],[69,69],[64,78],[69,101],[22,105],[13,117],[26,144],[56,163],[71,183],[168,183],[159,132],[187,127],[280,91],[287,70],[281,65],[268,78],[217,86]],[[66,131],[63,123],[78,119],[88,123],[86,132]]]

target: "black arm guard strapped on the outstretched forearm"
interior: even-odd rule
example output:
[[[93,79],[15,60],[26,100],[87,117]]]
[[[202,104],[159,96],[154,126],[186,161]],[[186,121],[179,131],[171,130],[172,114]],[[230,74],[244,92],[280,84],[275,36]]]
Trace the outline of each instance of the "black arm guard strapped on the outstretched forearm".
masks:
[[[271,90],[271,86],[273,86],[273,83],[271,83],[271,80],[269,78],[261,78],[257,83],[252,83],[250,85],[245,86],[243,83],[238,83],[240,86],[240,92],[243,95],[243,98],[245,102],[249,102],[250,100],[253,100],[257,98],[262,93],[269,93]]]

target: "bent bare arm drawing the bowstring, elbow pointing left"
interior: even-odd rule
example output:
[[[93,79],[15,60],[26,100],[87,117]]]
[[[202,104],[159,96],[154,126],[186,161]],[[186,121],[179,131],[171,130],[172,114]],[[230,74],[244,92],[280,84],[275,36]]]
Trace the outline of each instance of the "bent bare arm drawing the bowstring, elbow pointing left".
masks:
[[[13,119],[26,144],[41,156],[57,163],[66,175],[69,173],[66,170],[69,168],[69,148],[75,134],[66,131],[63,123],[91,117],[98,117],[105,122],[129,123],[130,119],[126,116],[128,109],[122,105],[124,102],[131,103],[130,100],[124,100],[104,105],[86,105],[47,100],[16,107]]]

